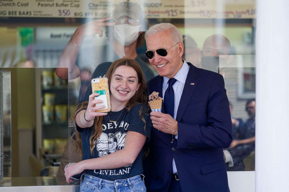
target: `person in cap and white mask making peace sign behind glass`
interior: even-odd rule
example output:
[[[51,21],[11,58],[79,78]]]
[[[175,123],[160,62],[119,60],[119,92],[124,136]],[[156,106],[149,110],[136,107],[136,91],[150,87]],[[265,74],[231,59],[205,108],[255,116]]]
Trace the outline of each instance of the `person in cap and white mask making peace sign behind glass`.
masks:
[[[106,27],[108,44],[100,46],[106,41],[103,27]],[[97,19],[77,27],[58,61],[58,67],[68,68],[68,73],[64,69],[56,69],[57,76],[74,79],[79,76],[80,69],[89,68],[94,71],[91,78],[104,77],[112,62],[119,58],[130,58],[138,62],[145,74],[145,80],[150,80],[154,73],[136,52],[144,43],[146,28],[146,21],[137,3],[117,4],[112,17]],[[93,41],[84,41],[85,37],[87,40],[95,34],[102,37],[98,45],[93,44]],[[90,82],[87,87],[84,97],[79,98],[78,103],[88,101],[91,94]]]

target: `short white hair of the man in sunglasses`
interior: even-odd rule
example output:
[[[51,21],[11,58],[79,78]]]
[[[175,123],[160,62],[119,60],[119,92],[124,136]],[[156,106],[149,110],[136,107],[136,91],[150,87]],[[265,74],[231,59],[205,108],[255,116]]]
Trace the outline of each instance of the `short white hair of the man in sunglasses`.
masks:
[[[155,35],[157,33],[162,33],[165,31],[169,31],[172,35],[173,41],[175,43],[183,42],[183,36],[181,35],[181,31],[171,23],[159,23],[151,26],[147,32],[145,33],[145,40],[147,40],[147,36]]]

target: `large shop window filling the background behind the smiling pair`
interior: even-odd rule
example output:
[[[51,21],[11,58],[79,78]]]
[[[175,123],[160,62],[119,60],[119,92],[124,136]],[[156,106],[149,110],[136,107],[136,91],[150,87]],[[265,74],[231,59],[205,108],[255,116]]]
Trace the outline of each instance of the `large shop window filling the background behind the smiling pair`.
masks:
[[[1,186],[16,186],[16,177],[67,184],[64,167],[81,160],[69,118],[88,101],[91,78],[123,57],[140,64],[146,81],[157,76],[144,34],[161,22],[181,31],[186,62],[224,78],[233,124],[227,171],[255,170],[255,3],[0,2]]]

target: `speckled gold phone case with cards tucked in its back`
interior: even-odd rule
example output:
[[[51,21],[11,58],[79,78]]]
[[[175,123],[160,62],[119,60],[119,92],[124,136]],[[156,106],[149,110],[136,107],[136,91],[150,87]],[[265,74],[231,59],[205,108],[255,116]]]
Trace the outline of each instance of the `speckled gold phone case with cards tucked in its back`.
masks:
[[[91,79],[92,93],[98,93],[99,95],[94,99],[102,100],[103,103],[96,103],[96,106],[105,105],[105,108],[96,110],[95,112],[110,112],[110,96],[108,88],[108,78],[94,78]]]

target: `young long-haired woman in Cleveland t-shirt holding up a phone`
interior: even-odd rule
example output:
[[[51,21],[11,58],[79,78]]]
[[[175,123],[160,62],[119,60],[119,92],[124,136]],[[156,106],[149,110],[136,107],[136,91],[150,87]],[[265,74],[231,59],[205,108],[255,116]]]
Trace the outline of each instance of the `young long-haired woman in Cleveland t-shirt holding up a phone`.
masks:
[[[66,167],[66,181],[83,173],[80,191],[146,191],[142,147],[149,140],[151,120],[144,75],[138,63],[123,58],[112,63],[106,77],[111,111],[95,112],[104,106],[95,106],[102,101],[93,93],[72,115],[82,161]]]

